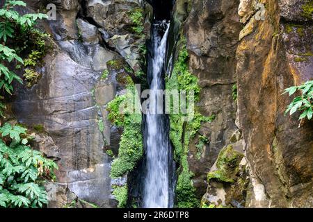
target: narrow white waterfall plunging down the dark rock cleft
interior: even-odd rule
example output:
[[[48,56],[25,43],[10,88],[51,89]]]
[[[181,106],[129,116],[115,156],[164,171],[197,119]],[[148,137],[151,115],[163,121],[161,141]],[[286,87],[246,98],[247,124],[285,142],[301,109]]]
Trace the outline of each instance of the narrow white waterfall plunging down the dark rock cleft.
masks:
[[[159,36],[157,26],[153,31],[153,60],[152,60],[152,82],[150,89],[157,92],[163,89],[162,69],[166,59],[166,42],[168,37],[169,24],[166,25],[166,32],[163,37]],[[157,93],[150,94],[157,100]],[[151,100],[150,100],[151,101]],[[143,195],[143,207],[146,208],[167,208],[170,207],[170,176],[169,176],[169,155],[170,143],[168,139],[167,123],[163,114],[153,114],[155,108],[149,104],[150,112],[146,117],[146,177]]]

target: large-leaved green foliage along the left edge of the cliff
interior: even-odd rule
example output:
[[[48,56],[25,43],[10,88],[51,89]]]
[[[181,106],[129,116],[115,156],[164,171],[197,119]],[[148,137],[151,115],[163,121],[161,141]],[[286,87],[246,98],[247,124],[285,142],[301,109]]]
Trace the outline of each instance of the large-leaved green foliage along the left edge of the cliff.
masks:
[[[30,86],[29,83],[35,83],[39,76],[32,68],[47,49],[45,38],[48,35],[33,28],[37,19],[47,18],[47,15],[19,15],[15,6],[26,6],[26,3],[6,1],[0,9],[1,99],[13,94],[13,80],[22,83],[22,79],[8,67],[27,67],[24,77]],[[18,56],[22,54],[29,56],[23,61]],[[0,102],[0,108],[3,117],[6,106]],[[55,179],[53,171],[58,168],[57,165],[27,145],[31,137],[26,135],[26,128],[4,123],[0,133],[0,206],[44,207],[48,200],[42,182]]]

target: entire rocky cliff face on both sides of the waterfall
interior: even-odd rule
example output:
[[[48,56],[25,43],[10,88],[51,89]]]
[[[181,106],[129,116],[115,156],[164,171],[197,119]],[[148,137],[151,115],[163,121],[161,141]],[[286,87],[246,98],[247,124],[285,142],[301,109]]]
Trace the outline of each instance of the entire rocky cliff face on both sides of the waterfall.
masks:
[[[26,2],[29,10],[47,3]],[[111,180],[113,158],[106,151],[118,155],[123,129],[109,122],[106,105],[125,91],[120,76],[145,78],[152,6],[53,3],[56,21],[41,26],[54,49],[38,67],[38,83],[18,89],[13,114],[60,167],[58,182],[47,184],[49,207],[77,197],[116,207],[111,185],[125,180]],[[189,140],[183,166],[202,207],[313,206],[313,122],[299,125],[298,114],[285,116],[291,98],[282,95],[313,78],[312,8],[311,0],[175,1],[168,70],[185,37],[188,71],[201,89],[196,110],[215,115]]]

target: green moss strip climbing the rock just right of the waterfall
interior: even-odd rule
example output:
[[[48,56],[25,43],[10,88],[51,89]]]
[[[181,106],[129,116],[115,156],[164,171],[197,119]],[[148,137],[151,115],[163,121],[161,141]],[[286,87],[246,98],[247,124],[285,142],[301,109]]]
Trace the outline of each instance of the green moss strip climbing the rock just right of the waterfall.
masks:
[[[200,87],[198,85],[198,78],[193,76],[188,70],[188,51],[186,49],[186,40],[181,40],[182,47],[179,51],[179,56],[175,62],[175,66],[170,78],[166,78],[166,89],[186,90],[187,99],[191,91],[194,92],[195,101],[198,101],[200,94]],[[185,121],[191,119],[191,121]],[[188,167],[188,146],[189,140],[198,134],[201,124],[204,122],[211,122],[214,120],[214,115],[211,117],[204,117],[199,112],[195,112],[193,117],[188,114],[170,114],[170,140],[175,147],[174,158],[179,162],[178,180],[175,190],[177,207],[189,208],[199,207],[200,200],[195,196],[195,187],[191,178],[193,173]]]

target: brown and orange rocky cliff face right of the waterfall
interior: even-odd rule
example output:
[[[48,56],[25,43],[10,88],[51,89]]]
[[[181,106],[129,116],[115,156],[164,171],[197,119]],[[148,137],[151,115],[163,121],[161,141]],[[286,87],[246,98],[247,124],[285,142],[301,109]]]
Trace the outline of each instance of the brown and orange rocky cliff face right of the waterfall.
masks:
[[[189,67],[202,87],[198,106],[204,114],[217,114],[200,130],[210,141],[200,161],[194,160],[197,142],[190,145],[193,184],[201,193],[209,182],[202,203],[312,207],[312,121],[298,128],[298,117],[284,116],[291,99],[282,95],[312,79],[312,1],[191,5],[184,31]],[[232,148],[223,148],[216,160],[228,144]],[[200,179],[208,171],[208,179]]]

